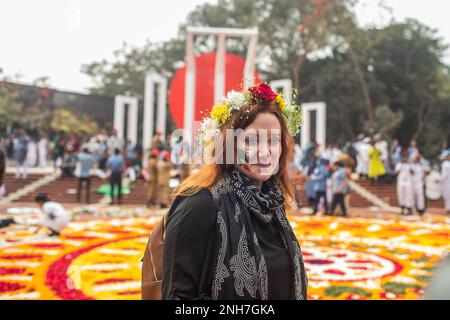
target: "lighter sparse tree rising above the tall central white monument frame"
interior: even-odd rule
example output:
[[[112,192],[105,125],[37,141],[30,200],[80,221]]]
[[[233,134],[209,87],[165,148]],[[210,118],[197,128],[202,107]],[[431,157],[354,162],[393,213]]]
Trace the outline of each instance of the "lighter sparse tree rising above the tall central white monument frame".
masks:
[[[258,69],[269,79],[291,78],[301,89],[300,74],[310,55],[326,50],[335,26],[353,21],[354,0],[219,0],[193,10],[188,25],[209,27],[257,27]],[[245,51],[245,42],[231,47]]]

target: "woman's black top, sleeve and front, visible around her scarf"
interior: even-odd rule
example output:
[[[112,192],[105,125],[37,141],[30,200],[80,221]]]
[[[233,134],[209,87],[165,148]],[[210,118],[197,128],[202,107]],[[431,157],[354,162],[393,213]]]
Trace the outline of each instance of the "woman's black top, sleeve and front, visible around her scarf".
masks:
[[[292,266],[279,229],[254,219],[266,259],[269,299],[292,297]],[[211,193],[177,197],[169,210],[163,252],[162,299],[210,299],[219,234]]]

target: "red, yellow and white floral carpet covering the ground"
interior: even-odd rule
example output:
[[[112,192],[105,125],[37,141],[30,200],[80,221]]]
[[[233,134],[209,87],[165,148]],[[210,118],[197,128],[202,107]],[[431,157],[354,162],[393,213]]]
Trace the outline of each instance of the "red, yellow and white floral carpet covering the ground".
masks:
[[[34,235],[33,226],[0,229],[0,299],[140,299],[140,259],[160,216],[114,209],[95,218],[101,210],[75,210],[92,218],[72,222],[59,238]],[[450,250],[442,216],[289,219],[309,299],[420,299]]]

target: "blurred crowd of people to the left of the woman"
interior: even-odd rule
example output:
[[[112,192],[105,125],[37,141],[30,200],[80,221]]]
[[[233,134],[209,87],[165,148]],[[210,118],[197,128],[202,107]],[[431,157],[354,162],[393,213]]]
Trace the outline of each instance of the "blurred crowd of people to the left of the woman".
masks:
[[[86,203],[90,203],[93,176],[109,179],[111,204],[122,203],[124,179],[129,183],[143,179],[148,186],[147,205],[165,208],[170,204],[172,175],[184,179],[190,172],[189,165],[172,164],[171,151],[178,144],[181,145],[178,139],[172,139],[170,135],[163,137],[157,132],[147,150],[147,159],[144,159],[142,145],[119,138],[115,130],[110,134],[101,132],[85,137],[54,134],[53,139],[48,140],[45,134],[32,135],[19,128],[0,141],[4,155],[0,165],[4,169],[9,158],[15,164],[16,179],[27,179],[28,168],[47,168],[53,163],[62,178],[78,178],[77,201],[81,202],[84,192]],[[175,174],[172,169],[176,170]],[[5,194],[3,176],[0,191]]]

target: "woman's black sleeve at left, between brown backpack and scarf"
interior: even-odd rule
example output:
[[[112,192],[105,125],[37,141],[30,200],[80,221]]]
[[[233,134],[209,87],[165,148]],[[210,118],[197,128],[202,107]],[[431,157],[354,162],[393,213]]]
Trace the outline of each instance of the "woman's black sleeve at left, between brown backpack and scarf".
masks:
[[[217,215],[204,189],[178,196],[168,212],[163,251],[162,299],[209,299]]]

